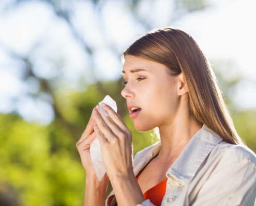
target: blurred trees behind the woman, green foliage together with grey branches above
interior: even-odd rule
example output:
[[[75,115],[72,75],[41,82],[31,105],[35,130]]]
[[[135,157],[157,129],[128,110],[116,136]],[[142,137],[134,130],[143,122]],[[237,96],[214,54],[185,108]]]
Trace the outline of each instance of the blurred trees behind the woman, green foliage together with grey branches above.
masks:
[[[94,12],[98,18],[102,18],[101,10],[108,1],[86,0],[94,5]],[[12,1],[8,9],[21,6],[29,0]],[[32,1],[30,1],[32,2]],[[64,21],[73,35],[73,40],[81,46],[88,59],[92,59],[97,46],[91,45],[90,40],[82,38],[81,31],[72,22],[73,4],[79,1],[65,0],[40,0],[54,12],[54,15]],[[140,25],[145,31],[152,30],[152,24],[148,15],[140,15],[140,6],[154,3],[153,0],[125,0],[126,7],[130,10],[132,20]],[[152,4],[154,5],[154,4]],[[208,1],[205,0],[173,0],[173,10],[170,23],[179,19],[191,11],[206,8]],[[86,20],[85,20],[86,21]],[[82,20],[81,20],[82,22]],[[100,22],[104,22],[101,19]],[[135,23],[134,23],[135,24]],[[100,25],[103,28],[104,25]],[[92,29],[93,30],[93,29]],[[88,31],[86,31],[88,32]],[[41,42],[40,42],[41,43]],[[34,45],[40,48],[45,42]],[[115,45],[109,45],[109,50],[116,52]],[[82,134],[93,108],[104,96],[109,94],[116,102],[118,113],[122,116],[128,128],[133,133],[134,154],[144,147],[156,142],[158,139],[153,131],[138,132],[128,116],[126,100],[121,96],[123,88],[121,80],[112,82],[98,81],[94,62],[88,61],[84,69],[88,71],[87,79],[93,79],[94,84],[86,82],[83,77],[81,87],[87,85],[84,91],[76,91],[65,88],[61,84],[61,76],[47,79],[34,72],[35,62],[33,50],[31,54],[22,56],[7,49],[13,62],[22,62],[23,74],[21,81],[27,83],[28,79],[38,81],[37,92],[26,94],[38,99],[41,94],[47,94],[52,98],[50,101],[54,111],[54,120],[50,125],[42,126],[34,122],[26,122],[17,113],[0,113],[0,205],[24,205],[24,206],[76,206],[82,205],[84,196],[85,172],[80,162],[76,143]],[[86,56],[84,55],[84,56]],[[38,56],[40,60],[41,53]],[[57,57],[53,58],[54,62]],[[118,57],[119,58],[119,57]],[[57,65],[62,70],[64,65]],[[230,108],[238,134],[246,142],[249,148],[256,152],[256,111],[238,111],[229,98],[229,91],[240,79],[227,81],[222,78],[222,66],[216,69],[221,90],[225,96],[225,102]],[[60,72],[61,74],[61,72]],[[85,78],[86,79],[86,78]],[[30,85],[28,84],[28,87]],[[111,185],[110,185],[111,186]],[[109,187],[110,191],[111,187]]]

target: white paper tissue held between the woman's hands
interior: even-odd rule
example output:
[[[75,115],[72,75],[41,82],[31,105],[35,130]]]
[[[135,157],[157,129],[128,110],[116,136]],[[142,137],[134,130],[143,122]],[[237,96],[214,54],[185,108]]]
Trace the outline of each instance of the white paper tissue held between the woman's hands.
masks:
[[[115,112],[117,112],[116,102],[109,95],[107,95],[101,102],[99,102],[100,111],[104,115],[109,116],[108,113],[104,111],[103,108],[101,107],[102,103],[107,104]],[[102,162],[101,148],[100,148],[100,143],[98,138],[96,138],[91,143],[90,153],[91,153],[91,159],[92,159],[92,166],[94,168],[94,171],[96,173],[98,180],[100,181],[103,178],[104,174],[106,173],[106,168]]]

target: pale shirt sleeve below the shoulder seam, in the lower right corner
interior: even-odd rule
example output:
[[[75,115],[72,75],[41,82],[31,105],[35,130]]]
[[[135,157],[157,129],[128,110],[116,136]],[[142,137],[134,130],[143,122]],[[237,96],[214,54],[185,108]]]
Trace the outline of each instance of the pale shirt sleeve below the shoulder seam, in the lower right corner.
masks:
[[[209,177],[199,191],[193,206],[254,206],[256,167],[248,160],[224,165]]]

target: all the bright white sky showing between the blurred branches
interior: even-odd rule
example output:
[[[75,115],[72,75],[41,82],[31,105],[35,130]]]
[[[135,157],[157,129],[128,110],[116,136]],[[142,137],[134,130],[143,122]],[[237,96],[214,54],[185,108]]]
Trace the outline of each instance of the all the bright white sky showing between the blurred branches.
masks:
[[[10,3],[2,1],[0,11],[2,5]],[[212,0],[212,5],[183,16],[172,26],[188,31],[210,60],[236,64],[232,70],[222,71],[227,79],[237,74],[245,77],[231,96],[241,109],[256,108],[256,1]],[[146,16],[146,21],[154,27],[162,27],[169,24],[172,9],[172,1],[143,0],[138,13],[141,18]],[[52,100],[47,94],[41,94],[42,101],[37,102],[27,95],[38,91],[38,82],[33,78],[26,83],[21,80],[24,66],[7,54],[10,49],[22,56],[29,54],[37,76],[59,77],[66,87],[79,87],[77,82],[81,82],[81,77],[93,82],[88,70],[92,63],[99,79],[121,76],[118,49],[126,48],[146,31],[135,22],[122,1],[108,1],[102,7],[101,17],[88,1],[78,1],[73,10],[72,22],[81,38],[96,49],[92,57],[83,52],[66,22],[56,18],[47,4],[22,2],[0,12],[0,112],[16,110],[27,121],[37,120],[41,124],[50,123],[54,117]],[[64,70],[60,71],[56,65]]]

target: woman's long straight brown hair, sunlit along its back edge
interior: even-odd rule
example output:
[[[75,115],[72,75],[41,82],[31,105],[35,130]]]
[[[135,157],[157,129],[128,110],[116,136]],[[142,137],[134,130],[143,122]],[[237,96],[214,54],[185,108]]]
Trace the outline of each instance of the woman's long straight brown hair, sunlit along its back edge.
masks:
[[[170,75],[183,73],[188,106],[200,124],[218,133],[225,142],[243,144],[224,103],[216,76],[194,39],[185,31],[162,28],[135,40],[122,55],[155,61],[169,68]]]

